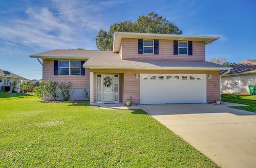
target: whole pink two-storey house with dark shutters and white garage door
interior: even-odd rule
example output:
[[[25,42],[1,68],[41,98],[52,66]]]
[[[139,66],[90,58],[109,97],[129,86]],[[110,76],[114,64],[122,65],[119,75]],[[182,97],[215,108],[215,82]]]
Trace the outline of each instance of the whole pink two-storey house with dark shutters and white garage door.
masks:
[[[72,100],[140,104],[206,103],[220,99],[220,70],[205,62],[205,45],[220,37],[114,33],[113,51],[51,50],[42,59],[42,78],[71,81]]]

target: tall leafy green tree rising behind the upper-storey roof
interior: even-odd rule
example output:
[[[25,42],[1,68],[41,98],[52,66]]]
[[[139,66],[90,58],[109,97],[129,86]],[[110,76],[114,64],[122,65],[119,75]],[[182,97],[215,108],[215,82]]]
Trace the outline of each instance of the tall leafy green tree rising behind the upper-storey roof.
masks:
[[[147,14],[147,16],[139,16],[135,22],[130,20],[114,23],[110,26],[109,32],[102,29],[99,30],[95,38],[96,46],[99,50],[110,51],[113,49],[114,32],[182,34],[182,31],[174,23],[152,12]]]

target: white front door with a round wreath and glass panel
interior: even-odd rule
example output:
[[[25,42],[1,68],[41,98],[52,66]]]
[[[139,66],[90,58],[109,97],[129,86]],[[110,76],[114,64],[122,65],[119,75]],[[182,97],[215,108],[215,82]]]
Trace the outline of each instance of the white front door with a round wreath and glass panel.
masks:
[[[102,75],[102,101],[114,101],[114,75]]]

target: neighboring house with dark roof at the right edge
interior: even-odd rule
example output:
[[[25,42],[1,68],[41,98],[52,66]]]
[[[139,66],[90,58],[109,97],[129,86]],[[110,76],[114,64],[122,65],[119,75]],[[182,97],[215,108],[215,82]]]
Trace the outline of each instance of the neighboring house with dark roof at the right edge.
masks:
[[[256,85],[256,60],[245,60],[230,67],[221,77],[221,93],[250,94],[249,85]]]

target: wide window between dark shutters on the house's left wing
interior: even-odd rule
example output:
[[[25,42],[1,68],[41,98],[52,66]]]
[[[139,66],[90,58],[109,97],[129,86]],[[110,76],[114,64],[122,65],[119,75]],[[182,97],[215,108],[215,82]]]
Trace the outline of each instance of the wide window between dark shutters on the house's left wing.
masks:
[[[80,61],[59,61],[59,75],[80,75]]]

